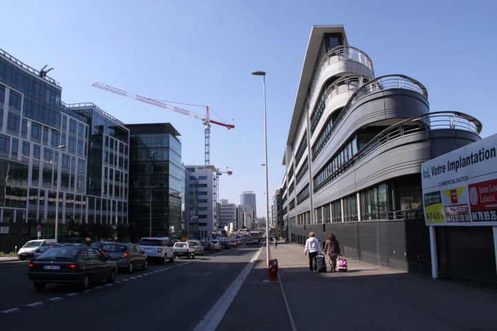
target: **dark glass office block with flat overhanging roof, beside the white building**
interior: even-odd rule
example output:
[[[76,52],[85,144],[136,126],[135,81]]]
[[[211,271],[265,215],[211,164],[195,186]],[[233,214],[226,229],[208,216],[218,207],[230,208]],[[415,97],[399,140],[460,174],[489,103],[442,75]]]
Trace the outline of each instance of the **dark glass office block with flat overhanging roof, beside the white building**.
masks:
[[[128,124],[130,130],[130,239],[181,238],[185,169],[179,132],[170,123]]]

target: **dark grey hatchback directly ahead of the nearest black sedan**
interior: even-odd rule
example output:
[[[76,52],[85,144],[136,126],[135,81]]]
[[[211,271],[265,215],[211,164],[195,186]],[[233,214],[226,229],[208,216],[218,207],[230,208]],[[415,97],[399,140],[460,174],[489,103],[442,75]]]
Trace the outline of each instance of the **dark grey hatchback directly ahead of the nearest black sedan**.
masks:
[[[117,263],[117,268],[131,273],[135,268],[146,270],[148,258],[144,250],[134,243],[110,243],[101,248],[106,256]]]

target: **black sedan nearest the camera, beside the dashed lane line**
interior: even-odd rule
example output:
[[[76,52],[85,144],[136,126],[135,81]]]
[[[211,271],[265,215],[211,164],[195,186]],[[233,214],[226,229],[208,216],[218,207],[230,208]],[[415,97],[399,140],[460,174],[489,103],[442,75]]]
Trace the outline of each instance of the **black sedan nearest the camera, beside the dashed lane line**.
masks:
[[[47,283],[77,283],[86,290],[91,282],[105,279],[115,281],[117,264],[110,261],[98,248],[59,246],[31,259],[28,277],[37,290]]]

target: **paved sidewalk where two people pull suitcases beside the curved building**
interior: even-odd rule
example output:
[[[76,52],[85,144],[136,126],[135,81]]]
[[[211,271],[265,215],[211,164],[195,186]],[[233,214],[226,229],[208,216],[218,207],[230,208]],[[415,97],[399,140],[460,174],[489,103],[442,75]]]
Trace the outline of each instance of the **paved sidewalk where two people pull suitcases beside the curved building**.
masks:
[[[351,259],[348,272],[314,274],[304,247],[280,243],[270,252],[280,281],[266,281],[262,249],[217,331],[497,330],[492,290]]]

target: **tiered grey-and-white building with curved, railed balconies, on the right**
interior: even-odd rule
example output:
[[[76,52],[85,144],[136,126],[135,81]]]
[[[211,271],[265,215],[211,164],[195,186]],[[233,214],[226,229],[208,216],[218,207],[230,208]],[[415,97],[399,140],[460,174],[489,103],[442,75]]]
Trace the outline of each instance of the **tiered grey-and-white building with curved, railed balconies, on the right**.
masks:
[[[462,112],[429,112],[403,74],[375,77],[343,26],[313,26],[284,151],[289,239],[333,232],[347,257],[401,270],[431,264],[421,163],[480,139]]]

